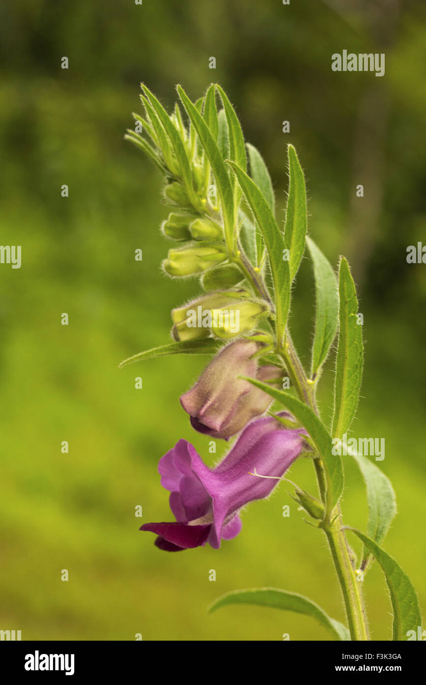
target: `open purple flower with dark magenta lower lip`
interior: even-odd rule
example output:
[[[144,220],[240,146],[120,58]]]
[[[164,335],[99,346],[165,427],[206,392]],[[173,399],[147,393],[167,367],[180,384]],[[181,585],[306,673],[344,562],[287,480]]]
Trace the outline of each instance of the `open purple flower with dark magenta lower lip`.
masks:
[[[281,412],[280,416],[289,416]],[[178,443],[159,461],[161,485],[170,490],[174,523],[145,523],[140,530],[156,533],[155,545],[180,551],[235,538],[241,530],[239,510],[264,499],[299,456],[302,429],[284,429],[272,416],[257,419],[241,433],[218,466],[209,469],[187,440]]]

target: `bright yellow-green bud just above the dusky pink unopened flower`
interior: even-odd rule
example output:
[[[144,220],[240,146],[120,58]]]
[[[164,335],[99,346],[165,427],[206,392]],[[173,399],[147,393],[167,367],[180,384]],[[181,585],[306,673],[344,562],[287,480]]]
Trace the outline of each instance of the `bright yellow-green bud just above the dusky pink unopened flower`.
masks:
[[[264,301],[245,299],[226,309],[212,310],[211,313],[213,333],[217,338],[228,340],[254,329],[259,319],[268,316],[269,307]]]

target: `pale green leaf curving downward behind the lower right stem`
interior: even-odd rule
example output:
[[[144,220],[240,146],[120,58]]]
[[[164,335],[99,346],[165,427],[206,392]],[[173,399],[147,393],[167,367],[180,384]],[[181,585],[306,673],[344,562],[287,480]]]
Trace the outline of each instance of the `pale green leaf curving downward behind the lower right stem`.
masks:
[[[377,545],[381,545],[390,523],[397,513],[395,491],[388,477],[377,466],[362,454],[354,454],[362,477],[367,487],[367,501],[369,503],[369,518],[367,534]],[[362,554],[361,568],[367,569],[371,556],[367,549]]]

